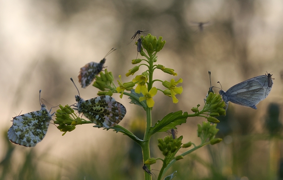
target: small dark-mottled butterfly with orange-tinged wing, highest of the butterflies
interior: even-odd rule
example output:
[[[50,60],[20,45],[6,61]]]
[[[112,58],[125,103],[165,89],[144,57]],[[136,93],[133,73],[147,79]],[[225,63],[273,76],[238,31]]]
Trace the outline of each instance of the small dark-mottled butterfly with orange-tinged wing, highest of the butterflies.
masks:
[[[106,56],[108,56],[111,52],[115,51],[116,49],[112,48],[106,54]],[[95,76],[99,74],[100,71],[102,71],[103,65],[106,61],[105,59],[106,56],[104,56],[104,58],[100,61],[100,63],[90,62],[87,63],[84,67],[81,67],[78,78],[82,88],[86,88],[87,86],[89,86],[92,83],[92,81],[95,79]]]

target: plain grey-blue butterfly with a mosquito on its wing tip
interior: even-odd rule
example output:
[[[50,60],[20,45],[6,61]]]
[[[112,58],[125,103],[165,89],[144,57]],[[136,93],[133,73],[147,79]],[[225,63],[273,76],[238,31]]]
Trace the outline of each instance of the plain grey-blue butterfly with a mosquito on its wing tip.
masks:
[[[226,110],[229,101],[241,106],[257,109],[256,105],[264,100],[271,91],[272,79],[271,87],[269,87],[268,83],[265,83],[268,81],[268,78],[268,75],[261,75],[240,82],[229,88],[226,92],[220,90],[219,94],[222,95],[223,101],[227,104]]]

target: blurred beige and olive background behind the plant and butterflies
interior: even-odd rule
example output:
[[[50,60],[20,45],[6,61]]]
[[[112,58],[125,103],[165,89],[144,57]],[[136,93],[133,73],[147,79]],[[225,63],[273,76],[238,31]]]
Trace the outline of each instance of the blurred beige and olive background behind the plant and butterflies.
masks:
[[[166,40],[157,63],[175,69],[174,78],[183,78],[184,89],[178,104],[161,93],[155,96],[154,122],[172,111],[202,107],[208,70],[212,85],[220,81],[223,90],[265,71],[275,78],[257,110],[230,103],[218,124],[224,141],[178,161],[169,172],[178,170],[174,179],[282,179],[282,16],[278,0],[0,0],[0,178],[143,179],[141,149],[121,133],[88,124],[61,136],[50,124],[34,148],[13,145],[6,133],[12,117],[40,109],[39,89],[48,107],[75,103],[70,77],[79,85],[80,67],[99,62],[112,47],[117,50],[105,66],[131,81],[124,74],[133,67],[137,50],[134,41],[128,43],[135,31],[148,30]],[[198,22],[208,22],[203,31]],[[158,72],[155,78],[169,81],[172,76]],[[84,99],[97,93],[92,86],[79,91]],[[114,98],[127,108],[120,124],[142,138],[142,108],[129,104],[126,96]],[[196,129],[201,121],[189,118],[178,127],[183,142],[200,142]],[[156,139],[165,135],[152,137],[153,157],[161,157]],[[152,165],[160,167],[160,162]]]

